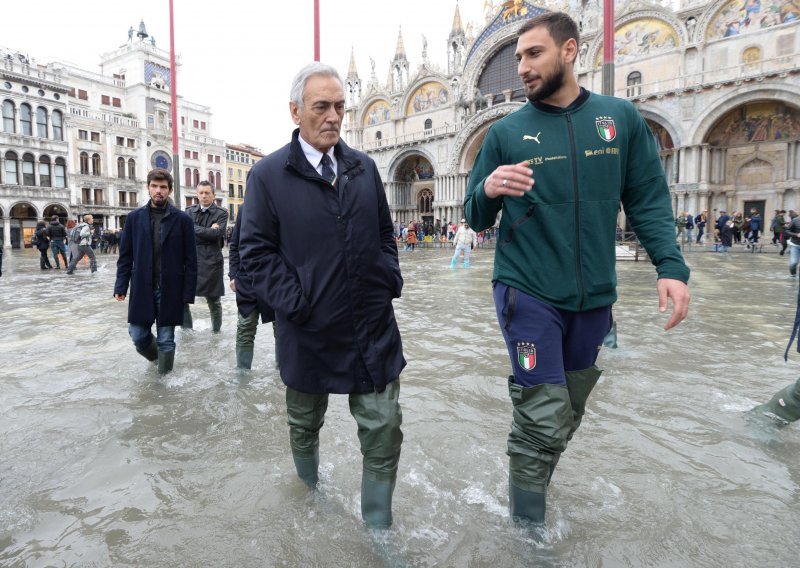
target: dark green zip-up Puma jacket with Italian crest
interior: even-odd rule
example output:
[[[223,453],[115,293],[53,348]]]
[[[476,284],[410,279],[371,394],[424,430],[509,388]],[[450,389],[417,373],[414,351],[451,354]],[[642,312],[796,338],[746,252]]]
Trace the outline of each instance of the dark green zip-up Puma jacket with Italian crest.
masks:
[[[489,199],[500,165],[527,161],[524,197]],[[502,209],[494,277],[568,311],[617,299],[615,235],[620,203],[659,278],[687,282],[655,141],[626,100],[582,90],[560,109],[530,102],[489,129],[470,173],[464,216],[480,231]]]

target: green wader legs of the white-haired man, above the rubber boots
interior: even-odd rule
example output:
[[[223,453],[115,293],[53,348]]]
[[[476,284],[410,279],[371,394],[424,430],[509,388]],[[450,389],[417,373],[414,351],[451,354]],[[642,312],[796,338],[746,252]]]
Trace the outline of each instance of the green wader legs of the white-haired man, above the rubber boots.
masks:
[[[350,414],[358,424],[363,456],[363,475],[372,481],[394,483],[400,462],[403,432],[400,426],[400,380],[382,393],[350,394]],[[319,452],[319,431],[325,422],[327,394],[307,394],[286,388],[289,444],[297,458],[313,458]]]

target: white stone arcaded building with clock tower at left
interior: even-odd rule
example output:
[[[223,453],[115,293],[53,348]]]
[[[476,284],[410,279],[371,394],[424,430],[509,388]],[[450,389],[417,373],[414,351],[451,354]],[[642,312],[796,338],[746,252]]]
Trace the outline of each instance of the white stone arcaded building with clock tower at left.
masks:
[[[149,170],[174,171],[169,53],[144,24],[101,57],[100,72],[62,62],[36,64],[0,50],[0,216],[3,246],[27,244],[39,219],[91,213],[121,228],[146,203]],[[180,69],[180,66],[178,67]],[[208,180],[223,186],[225,143],[212,113],[178,96],[178,205],[196,201]],[[225,206],[226,194],[217,192]]]

